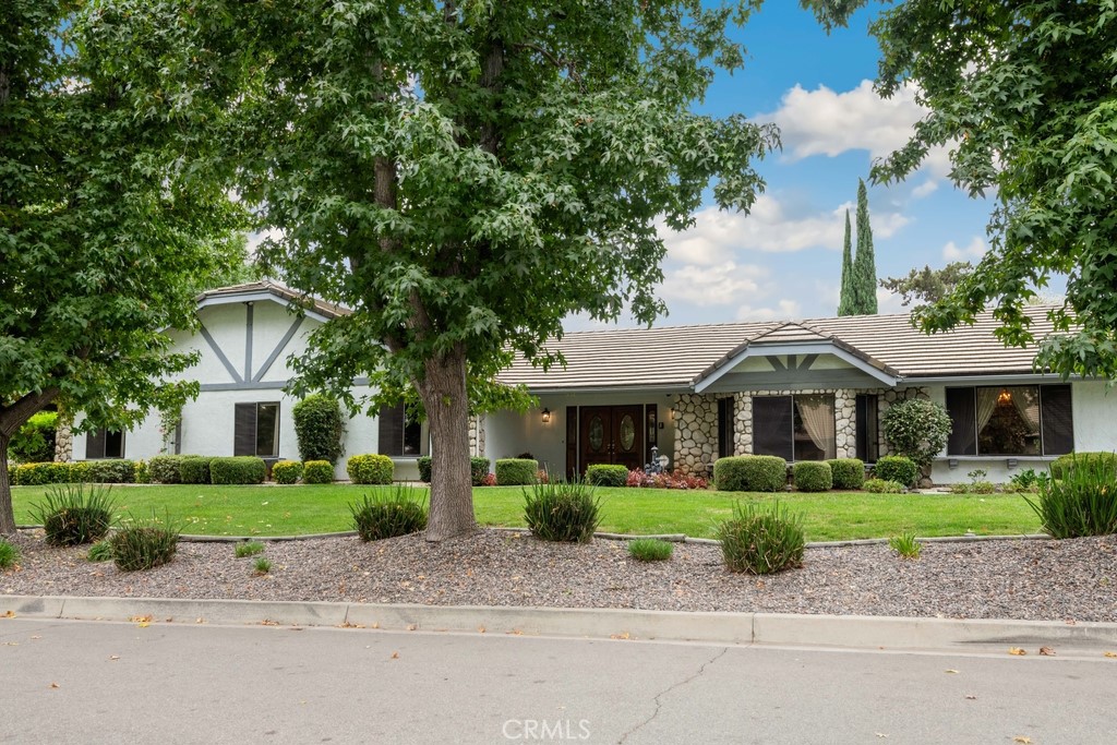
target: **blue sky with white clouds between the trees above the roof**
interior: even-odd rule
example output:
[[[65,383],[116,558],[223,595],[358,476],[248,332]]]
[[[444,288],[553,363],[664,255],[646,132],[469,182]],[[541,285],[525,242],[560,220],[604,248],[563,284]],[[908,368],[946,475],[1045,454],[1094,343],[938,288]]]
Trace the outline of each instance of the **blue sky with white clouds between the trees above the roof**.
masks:
[[[903,145],[923,115],[910,90],[891,99],[873,93],[879,49],[870,18],[863,10],[828,36],[798,2],[768,0],[735,34],[745,68],[719,74],[699,111],[774,121],[783,151],[760,164],[767,188],[751,214],[710,207],[693,229],[663,230],[659,295],[669,315],[657,325],[836,314],[844,209],[855,214],[858,179],[868,182],[873,159]],[[906,182],[869,185],[879,277],[984,254],[992,203],[955,189],[948,170],[946,152],[932,153]],[[885,290],[878,300],[880,313],[905,312]],[[566,324],[601,326],[581,317]]]

